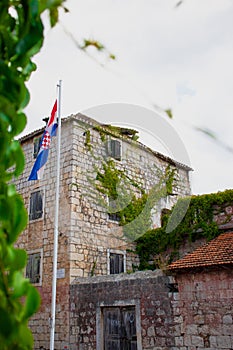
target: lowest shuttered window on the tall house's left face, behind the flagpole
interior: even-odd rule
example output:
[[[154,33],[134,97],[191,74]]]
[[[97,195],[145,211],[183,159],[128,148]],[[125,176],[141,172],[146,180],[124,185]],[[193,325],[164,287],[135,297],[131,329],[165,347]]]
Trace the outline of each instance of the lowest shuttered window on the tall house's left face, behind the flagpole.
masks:
[[[29,278],[31,283],[41,283],[41,252],[28,255],[26,278]]]

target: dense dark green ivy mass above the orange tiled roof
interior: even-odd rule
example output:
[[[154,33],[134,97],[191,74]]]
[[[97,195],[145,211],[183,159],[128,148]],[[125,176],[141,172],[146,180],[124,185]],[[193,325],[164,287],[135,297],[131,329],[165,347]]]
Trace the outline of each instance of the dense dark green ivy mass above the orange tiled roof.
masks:
[[[179,199],[172,212],[164,217],[163,227],[150,230],[137,240],[136,251],[140,257],[140,269],[154,269],[154,258],[170,251],[168,262],[178,254],[180,245],[188,239],[192,242],[200,238],[210,240],[220,231],[214,216],[224,211],[224,208],[233,203],[233,190],[226,190],[213,194],[192,196],[185,217],[172,231],[166,231],[169,217],[174,211],[177,215],[182,211],[187,199]],[[176,215],[174,215],[176,217]],[[226,216],[226,221],[230,218]]]

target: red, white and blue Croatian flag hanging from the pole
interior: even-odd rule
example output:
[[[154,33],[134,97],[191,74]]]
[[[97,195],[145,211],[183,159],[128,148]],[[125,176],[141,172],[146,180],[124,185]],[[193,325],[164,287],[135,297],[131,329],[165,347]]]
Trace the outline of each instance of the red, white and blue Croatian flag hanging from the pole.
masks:
[[[43,177],[44,167],[49,156],[49,147],[51,144],[51,139],[53,136],[56,136],[56,130],[57,130],[56,114],[57,114],[57,101],[54,103],[51,116],[49,118],[48,124],[42,136],[42,139],[40,142],[40,150],[38,152],[35,164],[32,168],[28,181],[41,180]]]

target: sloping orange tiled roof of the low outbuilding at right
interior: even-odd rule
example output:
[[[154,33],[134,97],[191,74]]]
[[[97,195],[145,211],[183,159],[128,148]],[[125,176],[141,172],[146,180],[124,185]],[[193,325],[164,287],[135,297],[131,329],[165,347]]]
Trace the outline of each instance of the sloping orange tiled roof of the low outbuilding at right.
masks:
[[[222,233],[168,266],[170,271],[233,264],[233,232]]]

